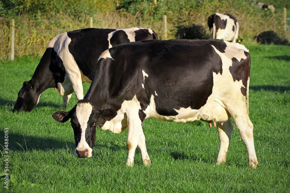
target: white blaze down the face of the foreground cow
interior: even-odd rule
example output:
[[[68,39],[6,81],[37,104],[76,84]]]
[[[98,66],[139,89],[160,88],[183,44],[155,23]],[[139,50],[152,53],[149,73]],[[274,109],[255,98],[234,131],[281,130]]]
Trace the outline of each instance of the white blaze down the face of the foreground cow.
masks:
[[[88,126],[88,120],[92,110],[93,106],[90,103],[79,103],[76,107],[77,120],[81,126],[81,140],[75,149],[79,151],[87,149],[88,157],[92,156],[92,148],[90,148],[86,142],[86,128]]]

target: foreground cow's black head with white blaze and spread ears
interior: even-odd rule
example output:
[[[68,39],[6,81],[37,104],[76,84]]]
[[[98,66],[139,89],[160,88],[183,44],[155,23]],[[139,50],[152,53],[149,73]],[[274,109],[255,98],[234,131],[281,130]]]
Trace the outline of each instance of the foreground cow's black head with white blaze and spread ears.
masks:
[[[70,119],[75,135],[76,157],[92,157],[96,139],[96,126],[102,127],[117,115],[113,109],[100,110],[89,100],[79,100],[69,112],[57,111],[52,117],[57,122],[64,123]]]

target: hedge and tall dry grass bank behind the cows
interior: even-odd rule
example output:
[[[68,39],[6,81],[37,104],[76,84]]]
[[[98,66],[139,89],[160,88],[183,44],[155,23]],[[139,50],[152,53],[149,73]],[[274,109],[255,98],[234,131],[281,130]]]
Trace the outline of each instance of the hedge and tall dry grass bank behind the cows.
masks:
[[[15,55],[42,54],[57,34],[89,27],[151,27],[164,39],[162,16],[167,15],[168,39],[210,37],[207,19],[216,12],[233,15],[240,24],[239,39],[260,41],[263,32],[276,33],[275,40],[287,43],[290,33],[284,30],[281,17],[285,0],[265,1],[275,12],[244,0],[0,0],[0,59],[10,52],[10,19],[15,19]],[[290,17],[290,10],[288,10]],[[272,38],[273,39],[273,38]],[[261,41],[260,41],[261,42]]]

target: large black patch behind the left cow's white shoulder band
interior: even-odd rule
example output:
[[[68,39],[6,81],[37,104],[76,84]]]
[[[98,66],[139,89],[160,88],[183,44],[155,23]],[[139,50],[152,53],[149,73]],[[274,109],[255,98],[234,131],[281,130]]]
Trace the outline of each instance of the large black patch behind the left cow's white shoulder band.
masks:
[[[113,31],[115,29],[86,28],[67,33],[71,38],[68,50],[79,69],[90,80],[93,79],[99,56],[109,47],[108,34]]]

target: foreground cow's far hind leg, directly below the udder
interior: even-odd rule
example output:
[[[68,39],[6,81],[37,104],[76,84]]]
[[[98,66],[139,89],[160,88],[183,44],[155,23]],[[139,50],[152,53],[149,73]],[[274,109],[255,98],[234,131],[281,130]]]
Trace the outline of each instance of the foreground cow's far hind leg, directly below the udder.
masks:
[[[218,152],[218,157],[215,161],[216,164],[225,163],[226,161],[226,153],[229,147],[229,141],[231,139],[231,134],[233,132],[233,124],[231,119],[229,118],[227,121],[221,124],[217,124],[218,127],[218,135],[220,138],[220,150]]]

